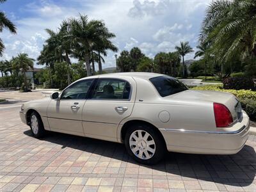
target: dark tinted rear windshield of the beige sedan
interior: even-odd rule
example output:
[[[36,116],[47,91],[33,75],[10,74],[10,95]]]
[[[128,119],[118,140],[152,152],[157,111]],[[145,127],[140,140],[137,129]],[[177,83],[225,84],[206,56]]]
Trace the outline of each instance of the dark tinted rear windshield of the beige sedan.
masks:
[[[188,87],[186,85],[170,76],[153,77],[149,80],[152,84],[154,84],[157,92],[162,97],[188,90]]]

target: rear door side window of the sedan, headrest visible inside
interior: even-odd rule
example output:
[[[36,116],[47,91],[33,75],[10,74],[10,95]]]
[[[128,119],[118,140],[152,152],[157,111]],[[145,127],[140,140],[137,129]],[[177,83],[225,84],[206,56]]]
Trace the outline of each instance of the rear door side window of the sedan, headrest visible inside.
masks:
[[[131,85],[122,79],[99,79],[92,99],[129,99]]]

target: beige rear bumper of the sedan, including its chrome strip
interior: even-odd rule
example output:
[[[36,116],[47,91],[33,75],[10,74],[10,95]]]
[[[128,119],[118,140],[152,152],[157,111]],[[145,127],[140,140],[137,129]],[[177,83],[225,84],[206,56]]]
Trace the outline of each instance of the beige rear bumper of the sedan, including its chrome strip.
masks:
[[[249,134],[249,117],[243,111],[240,122],[218,131],[160,129],[169,151],[189,154],[236,154]]]

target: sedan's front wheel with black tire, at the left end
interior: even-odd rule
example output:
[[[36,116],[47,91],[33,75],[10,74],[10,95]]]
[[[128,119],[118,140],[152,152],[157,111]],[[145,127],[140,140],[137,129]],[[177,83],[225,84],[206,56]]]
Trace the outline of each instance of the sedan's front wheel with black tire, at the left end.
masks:
[[[30,129],[35,138],[41,138],[45,134],[44,124],[36,111],[30,115]]]

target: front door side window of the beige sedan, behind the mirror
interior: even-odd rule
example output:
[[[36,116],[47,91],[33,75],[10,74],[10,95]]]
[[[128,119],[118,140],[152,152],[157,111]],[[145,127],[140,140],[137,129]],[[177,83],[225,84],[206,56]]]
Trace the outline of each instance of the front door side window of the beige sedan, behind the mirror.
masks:
[[[72,84],[61,94],[61,99],[86,99],[94,79],[82,80]]]

